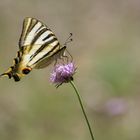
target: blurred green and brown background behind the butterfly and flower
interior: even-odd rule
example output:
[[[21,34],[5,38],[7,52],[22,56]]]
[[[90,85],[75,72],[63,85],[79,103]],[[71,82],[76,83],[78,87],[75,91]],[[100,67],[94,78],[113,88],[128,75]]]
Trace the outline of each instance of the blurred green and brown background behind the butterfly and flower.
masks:
[[[68,50],[95,140],[139,140],[140,1],[1,0],[1,73],[16,56],[25,17],[46,23],[62,44],[73,33]],[[51,70],[0,79],[0,140],[91,139],[73,89],[55,89]]]

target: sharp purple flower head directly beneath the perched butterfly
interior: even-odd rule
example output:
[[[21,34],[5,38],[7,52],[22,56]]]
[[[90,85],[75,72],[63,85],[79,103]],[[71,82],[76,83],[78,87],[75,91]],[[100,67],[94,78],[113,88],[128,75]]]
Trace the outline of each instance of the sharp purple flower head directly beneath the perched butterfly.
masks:
[[[76,68],[72,62],[68,64],[57,64],[51,73],[50,80],[52,83],[56,84],[56,86],[68,83],[73,80],[75,71]]]

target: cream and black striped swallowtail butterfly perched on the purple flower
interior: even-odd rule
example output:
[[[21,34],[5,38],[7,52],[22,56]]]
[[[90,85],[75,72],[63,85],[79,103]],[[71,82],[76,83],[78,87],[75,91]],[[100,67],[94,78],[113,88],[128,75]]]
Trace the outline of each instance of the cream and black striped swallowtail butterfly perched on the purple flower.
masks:
[[[14,64],[0,75],[15,81],[20,81],[32,69],[48,66],[64,56],[66,50],[66,45],[61,46],[55,34],[44,23],[31,17],[23,21],[18,45],[19,51],[14,58]]]

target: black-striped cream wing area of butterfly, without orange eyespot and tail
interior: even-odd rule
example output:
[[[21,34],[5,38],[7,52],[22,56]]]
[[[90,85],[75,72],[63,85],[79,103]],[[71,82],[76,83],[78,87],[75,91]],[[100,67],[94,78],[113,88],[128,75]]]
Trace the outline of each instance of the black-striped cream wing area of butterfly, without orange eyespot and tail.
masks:
[[[31,68],[44,68],[63,52],[54,33],[35,18],[25,18],[19,48],[23,63]]]

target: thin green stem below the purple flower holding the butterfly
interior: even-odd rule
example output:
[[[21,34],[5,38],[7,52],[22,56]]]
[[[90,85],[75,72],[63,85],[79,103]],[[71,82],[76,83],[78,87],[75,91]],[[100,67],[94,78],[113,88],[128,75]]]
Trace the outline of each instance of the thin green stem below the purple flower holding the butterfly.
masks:
[[[76,88],[74,82],[73,82],[73,81],[70,81],[70,84],[71,84],[72,87],[74,88],[75,93],[76,93],[76,95],[77,95],[77,97],[78,97],[78,100],[79,100],[79,103],[80,103],[80,106],[81,106],[83,115],[84,115],[84,117],[85,117],[85,120],[86,120],[88,129],[89,129],[89,132],[90,132],[90,135],[91,135],[91,139],[94,140],[93,132],[92,132],[92,129],[91,129],[91,126],[90,126],[88,117],[87,117],[87,115],[86,115],[86,112],[85,112],[85,109],[84,109],[84,106],[83,106],[83,103],[82,103],[82,99],[81,99],[81,97],[80,97],[80,94],[79,94],[79,92],[78,92],[78,90],[77,90],[77,88]]]

